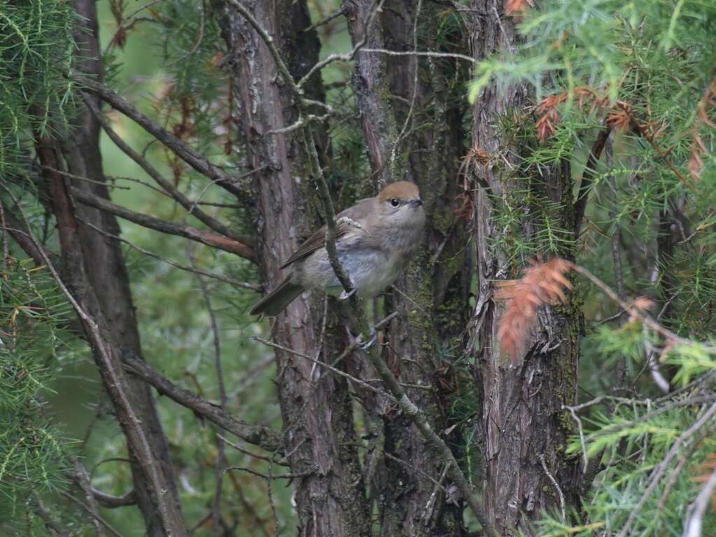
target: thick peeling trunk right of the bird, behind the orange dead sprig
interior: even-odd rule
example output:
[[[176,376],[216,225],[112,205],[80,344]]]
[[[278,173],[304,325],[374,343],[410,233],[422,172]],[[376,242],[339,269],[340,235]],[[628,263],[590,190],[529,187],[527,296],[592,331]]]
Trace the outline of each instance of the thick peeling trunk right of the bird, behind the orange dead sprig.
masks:
[[[475,0],[472,7],[482,14],[473,19],[475,58],[518,46],[514,21],[504,16],[502,1]],[[521,366],[508,366],[500,355],[496,337],[501,307],[492,300],[492,281],[517,276],[505,253],[492,244],[503,231],[495,225],[495,213],[503,194],[515,188],[538,189],[548,200],[561,203],[558,215],[561,228],[574,229],[569,164],[543,170],[541,174],[537,170],[524,170],[519,155],[526,148],[506,147],[499,137],[500,116],[520,113],[528,105],[528,97],[528,89],[522,84],[500,89],[489,86],[478,96],[473,108],[473,143],[492,156],[485,168],[491,196],[480,189],[475,215],[479,282],[473,322],[479,342],[476,382],[483,397],[485,508],[500,536],[517,535],[520,530],[531,535],[529,521],[538,518],[543,509],[559,507],[559,493],[543,469],[541,457],[560,485],[566,503],[579,502],[576,490],[579,460],[564,453],[572,425],[561,410],[561,405],[571,405],[576,400],[578,309],[570,304],[541,310],[539,327]],[[511,168],[503,164],[503,157],[521,170],[519,184],[511,178]],[[522,233],[531,236],[539,225],[539,218],[526,214]],[[571,258],[572,248],[565,248],[561,256]]]

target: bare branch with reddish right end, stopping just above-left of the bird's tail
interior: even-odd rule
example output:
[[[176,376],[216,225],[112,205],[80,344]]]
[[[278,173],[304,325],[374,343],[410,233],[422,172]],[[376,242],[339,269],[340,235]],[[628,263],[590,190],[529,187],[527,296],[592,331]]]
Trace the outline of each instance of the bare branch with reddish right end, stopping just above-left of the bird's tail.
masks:
[[[235,253],[237,256],[248,259],[249,261],[256,261],[256,252],[253,248],[251,248],[251,246],[235,241],[232,238],[222,237],[206,231],[200,231],[199,229],[187,226],[186,224],[166,222],[159,220],[158,218],[154,218],[153,216],[135,213],[135,211],[130,211],[129,209],[122,207],[122,205],[117,205],[116,203],[112,203],[111,201],[105,200],[105,198],[100,198],[100,196],[84,190],[72,187],[70,187],[69,190],[74,198],[77,198],[80,203],[89,205],[90,207],[94,207],[100,211],[112,213],[113,215],[124,218],[125,220],[133,222],[138,226],[160,231],[161,233],[168,233],[169,235],[189,238],[192,241]]]

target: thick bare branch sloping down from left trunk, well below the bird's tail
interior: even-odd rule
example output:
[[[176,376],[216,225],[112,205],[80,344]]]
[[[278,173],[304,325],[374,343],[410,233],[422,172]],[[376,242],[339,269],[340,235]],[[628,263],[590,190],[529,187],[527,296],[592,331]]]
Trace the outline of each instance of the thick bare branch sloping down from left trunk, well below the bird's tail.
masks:
[[[240,422],[235,417],[223,412],[217,405],[209,402],[189,390],[184,390],[159,374],[153,367],[137,357],[126,354],[122,356],[125,369],[147,384],[152,385],[161,395],[166,395],[171,400],[183,407],[192,410],[199,417],[205,417],[223,430],[231,432],[246,442],[258,445],[269,452],[283,452],[281,436],[269,427],[261,425],[250,425]]]

